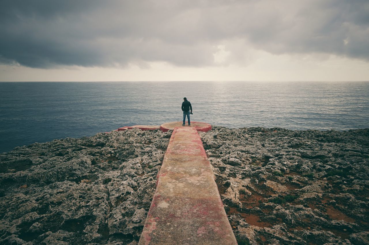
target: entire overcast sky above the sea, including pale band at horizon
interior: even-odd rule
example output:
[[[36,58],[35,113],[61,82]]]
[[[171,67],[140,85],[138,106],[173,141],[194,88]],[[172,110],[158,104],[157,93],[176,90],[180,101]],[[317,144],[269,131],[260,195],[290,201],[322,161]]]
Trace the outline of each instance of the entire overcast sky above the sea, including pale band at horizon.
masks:
[[[0,81],[369,81],[368,0],[3,0]]]

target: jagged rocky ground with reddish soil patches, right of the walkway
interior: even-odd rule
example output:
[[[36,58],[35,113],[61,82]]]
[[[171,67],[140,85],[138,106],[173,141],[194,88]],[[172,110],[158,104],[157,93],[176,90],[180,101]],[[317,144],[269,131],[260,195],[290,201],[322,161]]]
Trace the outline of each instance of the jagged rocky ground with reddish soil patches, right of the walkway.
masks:
[[[369,129],[200,135],[239,244],[369,244]]]

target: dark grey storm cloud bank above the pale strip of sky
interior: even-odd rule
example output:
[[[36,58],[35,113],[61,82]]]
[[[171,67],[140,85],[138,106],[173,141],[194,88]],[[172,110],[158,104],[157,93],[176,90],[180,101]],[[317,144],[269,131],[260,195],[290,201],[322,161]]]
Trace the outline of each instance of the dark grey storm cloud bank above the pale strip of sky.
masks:
[[[214,65],[218,45],[225,45],[230,57],[252,48],[369,60],[366,0],[9,0],[1,5],[2,63],[48,68],[165,61],[199,67]]]

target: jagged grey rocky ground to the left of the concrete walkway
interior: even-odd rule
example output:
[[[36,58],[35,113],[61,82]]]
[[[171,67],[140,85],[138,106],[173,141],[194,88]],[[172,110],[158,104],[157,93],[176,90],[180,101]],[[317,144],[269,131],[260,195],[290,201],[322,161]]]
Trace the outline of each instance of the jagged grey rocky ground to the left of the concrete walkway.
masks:
[[[137,244],[171,132],[99,133],[0,154],[0,244]]]

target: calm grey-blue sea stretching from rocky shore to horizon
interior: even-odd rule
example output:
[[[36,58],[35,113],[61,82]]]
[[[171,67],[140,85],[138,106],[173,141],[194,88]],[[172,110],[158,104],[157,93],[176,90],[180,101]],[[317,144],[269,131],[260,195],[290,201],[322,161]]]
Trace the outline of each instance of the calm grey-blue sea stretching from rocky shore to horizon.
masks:
[[[369,128],[369,82],[0,82],[0,152],[135,124]]]

